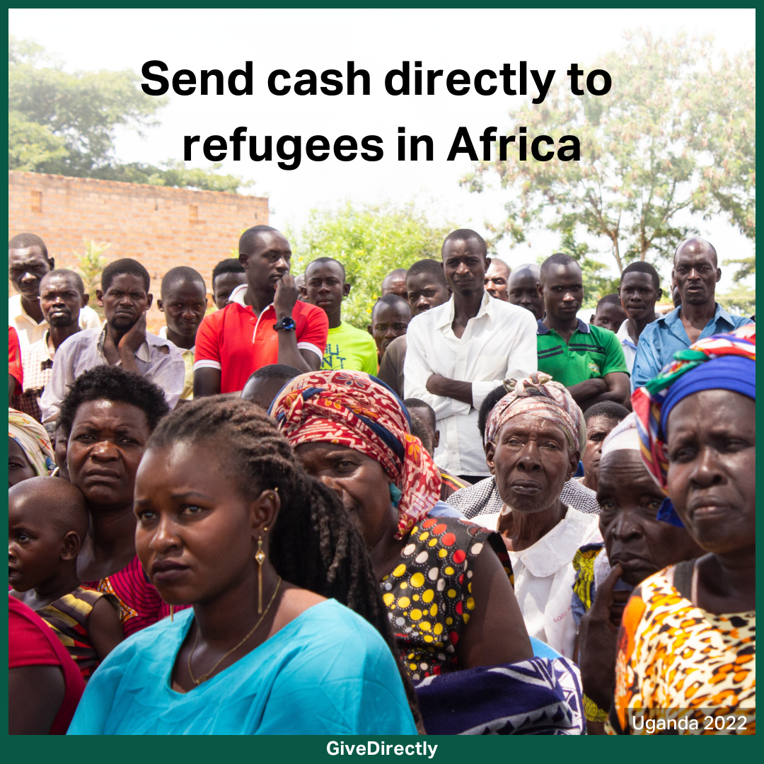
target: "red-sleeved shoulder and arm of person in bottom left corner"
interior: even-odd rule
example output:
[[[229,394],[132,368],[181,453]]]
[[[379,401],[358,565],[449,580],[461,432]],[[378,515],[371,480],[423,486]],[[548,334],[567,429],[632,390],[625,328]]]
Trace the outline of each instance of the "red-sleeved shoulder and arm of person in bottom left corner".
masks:
[[[8,597],[8,734],[65,735],[85,681],[47,623]]]

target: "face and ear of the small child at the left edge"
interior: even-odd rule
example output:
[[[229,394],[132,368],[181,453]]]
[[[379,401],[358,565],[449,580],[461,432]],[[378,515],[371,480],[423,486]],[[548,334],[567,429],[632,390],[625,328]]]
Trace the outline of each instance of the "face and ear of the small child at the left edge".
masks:
[[[29,591],[50,581],[61,561],[76,558],[79,551],[79,536],[73,531],[62,533],[56,523],[46,522],[50,507],[37,503],[8,497],[8,583],[16,591]],[[72,549],[71,536],[76,539],[76,549]]]

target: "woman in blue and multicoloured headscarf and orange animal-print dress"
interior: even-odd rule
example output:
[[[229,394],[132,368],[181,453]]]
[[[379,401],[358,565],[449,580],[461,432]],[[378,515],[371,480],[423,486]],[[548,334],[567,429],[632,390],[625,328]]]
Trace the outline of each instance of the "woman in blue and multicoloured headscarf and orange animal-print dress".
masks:
[[[675,358],[632,403],[645,465],[669,494],[659,516],[685,526],[707,554],[634,590],[607,731],[645,734],[654,724],[753,734],[756,325],[701,339]]]

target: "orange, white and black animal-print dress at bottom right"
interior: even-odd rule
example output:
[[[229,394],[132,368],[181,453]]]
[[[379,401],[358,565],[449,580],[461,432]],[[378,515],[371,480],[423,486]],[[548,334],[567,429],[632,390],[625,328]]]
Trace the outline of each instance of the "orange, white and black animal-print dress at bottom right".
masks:
[[[626,605],[607,733],[647,734],[649,719],[671,733],[756,733],[756,611],[716,615],[692,604],[693,567],[650,576]],[[695,730],[674,721],[682,718]]]

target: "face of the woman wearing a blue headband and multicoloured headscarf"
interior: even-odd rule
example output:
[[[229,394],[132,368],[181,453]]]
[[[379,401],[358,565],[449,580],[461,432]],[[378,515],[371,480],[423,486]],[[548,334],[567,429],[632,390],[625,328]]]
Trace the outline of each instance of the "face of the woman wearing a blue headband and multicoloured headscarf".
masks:
[[[669,496],[707,552],[756,546],[756,403],[731,390],[702,390],[669,413]]]

